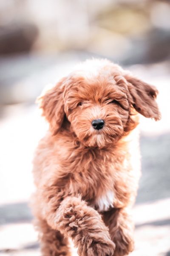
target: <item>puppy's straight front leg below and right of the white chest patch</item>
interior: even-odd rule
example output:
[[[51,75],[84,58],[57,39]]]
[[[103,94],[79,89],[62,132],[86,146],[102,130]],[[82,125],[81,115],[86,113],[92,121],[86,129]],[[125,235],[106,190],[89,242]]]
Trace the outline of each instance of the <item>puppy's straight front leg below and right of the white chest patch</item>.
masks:
[[[103,220],[109,227],[112,241],[116,244],[114,256],[125,256],[133,251],[133,222],[125,208],[111,209],[103,214]]]

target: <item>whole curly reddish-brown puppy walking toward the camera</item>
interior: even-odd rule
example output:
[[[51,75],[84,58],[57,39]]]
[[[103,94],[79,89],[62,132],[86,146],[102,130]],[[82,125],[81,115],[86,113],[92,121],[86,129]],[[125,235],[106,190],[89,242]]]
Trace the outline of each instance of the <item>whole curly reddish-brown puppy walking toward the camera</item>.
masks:
[[[160,119],[156,88],[108,60],[88,60],[40,98],[49,131],[34,158],[33,210],[43,256],[133,250],[140,176],[138,113]]]

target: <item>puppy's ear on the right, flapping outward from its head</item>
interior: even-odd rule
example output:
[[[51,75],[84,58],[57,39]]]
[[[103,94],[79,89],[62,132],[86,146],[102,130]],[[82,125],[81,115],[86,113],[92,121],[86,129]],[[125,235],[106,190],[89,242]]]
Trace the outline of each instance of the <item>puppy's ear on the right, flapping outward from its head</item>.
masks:
[[[156,96],[158,90],[131,74],[125,74],[127,87],[131,96],[131,104],[133,107],[145,117],[154,118],[156,121],[161,119]]]

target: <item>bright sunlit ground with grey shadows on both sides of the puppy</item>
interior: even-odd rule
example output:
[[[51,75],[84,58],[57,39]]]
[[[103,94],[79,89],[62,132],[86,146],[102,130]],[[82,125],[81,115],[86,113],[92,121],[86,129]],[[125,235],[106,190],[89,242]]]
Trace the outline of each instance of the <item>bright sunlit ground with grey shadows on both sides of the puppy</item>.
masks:
[[[142,178],[133,207],[136,246],[131,256],[170,256],[169,66],[129,67],[156,85],[162,113],[160,122],[141,118]],[[46,76],[53,76],[54,70],[48,69]],[[28,78],[24,81],[27,84]],[[0,256],[40,256],[28,204],[34,191],[31,159],[47,126],[34,104],[3,106],[0,117]]]

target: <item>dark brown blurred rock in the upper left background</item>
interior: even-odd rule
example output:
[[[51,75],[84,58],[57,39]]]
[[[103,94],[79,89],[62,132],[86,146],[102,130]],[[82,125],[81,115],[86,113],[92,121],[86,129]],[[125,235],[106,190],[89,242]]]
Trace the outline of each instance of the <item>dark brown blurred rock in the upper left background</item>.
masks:
[[[14,23],[0,27],[0,54],[29,52],[38,35],[38,29],[30,23]]]

